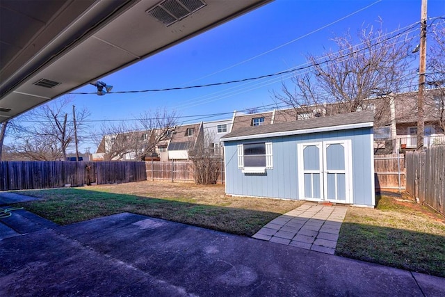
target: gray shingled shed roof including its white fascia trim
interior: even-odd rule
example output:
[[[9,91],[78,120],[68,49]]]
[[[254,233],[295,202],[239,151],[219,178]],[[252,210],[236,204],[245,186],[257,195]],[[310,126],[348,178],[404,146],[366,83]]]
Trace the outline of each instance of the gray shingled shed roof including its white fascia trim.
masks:
[[[373,111],[360,111],[355,113],[330,115],[309,120],[296,120],[282,122],[274,125],[261,125],[245,127],[232,131],[221,137],[222,141],[237,141],[241,139],[265,138],[295,134],[316,133],[340,129],[354,129],[360,127],[373,127]]]

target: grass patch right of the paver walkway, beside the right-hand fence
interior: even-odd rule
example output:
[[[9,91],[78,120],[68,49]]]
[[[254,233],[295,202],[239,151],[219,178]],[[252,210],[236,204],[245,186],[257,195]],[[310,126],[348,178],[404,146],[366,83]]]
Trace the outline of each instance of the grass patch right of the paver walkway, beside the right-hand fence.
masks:
[[[412,203],[383,196],[376,209],[348,209],[336,254],[445,277],[445,225]]]

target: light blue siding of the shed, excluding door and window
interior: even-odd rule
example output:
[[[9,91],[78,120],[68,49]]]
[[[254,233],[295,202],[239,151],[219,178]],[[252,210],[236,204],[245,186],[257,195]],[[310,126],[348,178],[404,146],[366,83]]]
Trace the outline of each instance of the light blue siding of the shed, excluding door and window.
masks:
[[[329,131],[275,138],[225,142],[226,193],[266,198],[299,199],[298,143],[351,141],[354,204],[373,205],[372,128]],[[244,174],[238,169],[237,146],[252,142],[273,143],[273,169],[265,174]]]

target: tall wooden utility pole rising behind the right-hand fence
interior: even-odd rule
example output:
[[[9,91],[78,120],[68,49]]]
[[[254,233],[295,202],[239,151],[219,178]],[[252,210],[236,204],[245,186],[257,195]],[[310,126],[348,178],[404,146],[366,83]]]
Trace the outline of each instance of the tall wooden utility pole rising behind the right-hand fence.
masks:
[[[426,7],[427,0],[422,0],[420,22],[420,61],[419,61],[419,93],[417,95],[417,151],[423,150],[423,130],[425,129],[425,113],[423,100],[426,83]]]

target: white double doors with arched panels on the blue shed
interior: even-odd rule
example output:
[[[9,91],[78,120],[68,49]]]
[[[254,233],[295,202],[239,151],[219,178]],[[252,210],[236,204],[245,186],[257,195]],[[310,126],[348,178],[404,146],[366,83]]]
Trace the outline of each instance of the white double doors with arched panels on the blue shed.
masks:
[[[300,199],[352,203],[350,141],[298,145]]]

